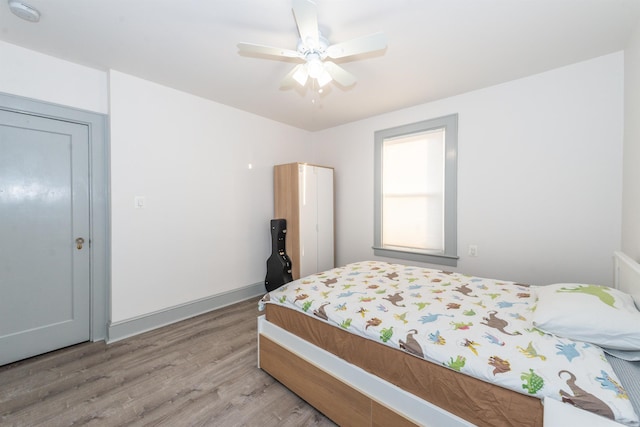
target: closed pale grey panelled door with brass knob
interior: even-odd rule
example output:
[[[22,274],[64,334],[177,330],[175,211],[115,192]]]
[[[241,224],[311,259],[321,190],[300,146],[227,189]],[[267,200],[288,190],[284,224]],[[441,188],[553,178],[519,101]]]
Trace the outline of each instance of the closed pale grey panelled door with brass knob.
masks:
[[[88,132],[0,110],[0,365],[89,339]]]

